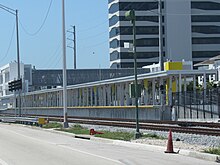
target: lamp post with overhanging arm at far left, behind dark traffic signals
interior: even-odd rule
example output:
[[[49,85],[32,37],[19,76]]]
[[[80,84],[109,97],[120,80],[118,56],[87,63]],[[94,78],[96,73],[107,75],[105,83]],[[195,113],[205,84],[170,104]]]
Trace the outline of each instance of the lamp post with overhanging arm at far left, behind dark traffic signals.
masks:
[[[18,10],[11,9],[9,7],[6,7],[4,5],[0,4],[0,8],[7,11],[8,13],[14,15],[16,17],[16,41],[17,41],[17,70],[18,70],[18,75],[17,79],[19,80],[21,78],[20,75],[20,51],[19,51],[19,32],[18,32]],[[18,113],[19,116],[21,116],[21,89],[18,90]]]

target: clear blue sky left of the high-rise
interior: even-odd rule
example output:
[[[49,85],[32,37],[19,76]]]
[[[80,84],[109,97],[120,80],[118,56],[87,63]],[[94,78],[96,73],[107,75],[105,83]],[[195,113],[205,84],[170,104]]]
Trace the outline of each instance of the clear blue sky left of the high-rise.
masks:
[[[0,0],[19,12],[20,60],[36,69],[61,69],[62,0]],[[47,14],[48,13],[48,14]],[[108,1],[65,0],[65,26],[76,26],[77,69],[109,68]],[[0,66],[17,59],[15,16],[0,8]],[[66,33],[67,38],[73,38]],[[66,45],[73,46],[69,40]],[[66,49],[67,69],[73,49]]]

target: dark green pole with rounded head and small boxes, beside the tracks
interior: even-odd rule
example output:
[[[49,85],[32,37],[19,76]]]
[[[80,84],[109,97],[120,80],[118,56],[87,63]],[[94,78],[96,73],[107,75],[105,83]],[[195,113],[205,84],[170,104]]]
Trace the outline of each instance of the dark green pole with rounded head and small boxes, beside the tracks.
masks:
[[[135,11],[129,10],[125,13],[125,18],[130,20],[133,24],[133,54],[134,54],[134,91],[135,91],[135,110],[136,110],[136,132],[135,138],[138,139],[141,137],[141,133],[139,131],[139,114],[138,114],[138,83],[137,83],[137,54],[136,54],[136,26],[135,26]]]

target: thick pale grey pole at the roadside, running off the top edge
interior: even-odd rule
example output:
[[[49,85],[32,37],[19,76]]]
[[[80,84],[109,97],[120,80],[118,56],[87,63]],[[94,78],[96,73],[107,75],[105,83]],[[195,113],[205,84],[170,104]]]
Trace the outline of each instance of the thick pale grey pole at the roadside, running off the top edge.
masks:
[[[67,79],[66,79],[66,30],[65,30],[65,3],[62,0],[62,30],[63,30],[63,127],[68,128],[67,121]]]

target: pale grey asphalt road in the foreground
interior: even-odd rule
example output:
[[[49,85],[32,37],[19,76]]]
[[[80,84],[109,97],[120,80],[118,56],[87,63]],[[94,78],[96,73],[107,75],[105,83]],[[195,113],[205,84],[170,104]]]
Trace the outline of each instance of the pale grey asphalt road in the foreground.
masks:
[[[0,123],[2,165],[212,165],[214,162],[149,148],[76,139],[27,126]]]

